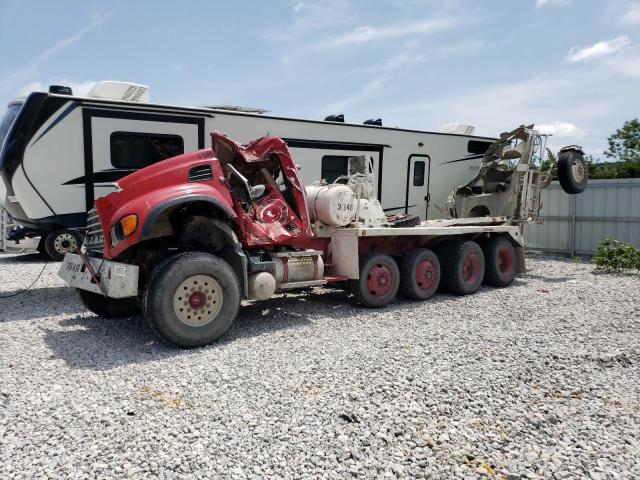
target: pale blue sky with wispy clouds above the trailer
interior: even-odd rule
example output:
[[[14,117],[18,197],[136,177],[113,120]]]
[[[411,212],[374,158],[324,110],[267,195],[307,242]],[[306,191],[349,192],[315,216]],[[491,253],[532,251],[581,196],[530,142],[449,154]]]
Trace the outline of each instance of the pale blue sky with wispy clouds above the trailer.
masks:
[[[640,0],[0,0],[0,102],[52,83],[153,102],[497,135],[602,157],[640,113]]]

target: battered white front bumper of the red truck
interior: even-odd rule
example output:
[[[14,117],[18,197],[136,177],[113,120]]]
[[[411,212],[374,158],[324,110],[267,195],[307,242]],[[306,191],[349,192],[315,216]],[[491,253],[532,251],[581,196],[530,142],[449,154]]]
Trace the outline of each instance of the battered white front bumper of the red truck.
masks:
[[[87,263],[93,269],[94,276]],[[70,286],[111,298],[138,295],[138,267],[102,258],[67,253],[58,275]]]

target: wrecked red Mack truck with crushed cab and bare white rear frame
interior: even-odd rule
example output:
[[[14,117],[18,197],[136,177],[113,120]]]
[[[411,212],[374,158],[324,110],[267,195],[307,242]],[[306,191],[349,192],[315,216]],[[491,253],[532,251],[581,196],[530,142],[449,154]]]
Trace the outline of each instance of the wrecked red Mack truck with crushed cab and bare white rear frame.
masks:
[[[281,139],[211,136],[212,148],[137,171],[96,201],[82,250],[60,268],[89,310],[141,308],[163,340],[196,347],[229,329],[243,299],[346,285],[382,307],[398,293],[504,287],[524,271],[517,216],[389,218],[364,157],[334,183],[305,187]]]

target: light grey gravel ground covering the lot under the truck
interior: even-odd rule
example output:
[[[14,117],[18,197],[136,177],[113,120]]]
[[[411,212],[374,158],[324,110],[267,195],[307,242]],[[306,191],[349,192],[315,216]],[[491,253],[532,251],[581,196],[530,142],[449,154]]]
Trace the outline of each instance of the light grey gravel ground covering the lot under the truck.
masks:
[[[0,294],[37,256],[0,257]],[[0,299],[3,478],[639,478],[640,277],[533,257],[508,289],[249,304],[177,350],[48,265]]]

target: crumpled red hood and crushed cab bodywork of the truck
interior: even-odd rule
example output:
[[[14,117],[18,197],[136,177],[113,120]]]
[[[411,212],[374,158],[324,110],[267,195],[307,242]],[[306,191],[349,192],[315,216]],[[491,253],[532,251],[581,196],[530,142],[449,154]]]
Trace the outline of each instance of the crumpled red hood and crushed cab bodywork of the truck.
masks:
[[[328,240],[314,238],[311,231],[304,184],[282,139],[264,137],[237,144],[222,133],[213,132],[211,137],[213,145],[222,143],[232,151],[231,163],[240,171],[257,173],[276,158],[278,173],[286,178],[288,195],[285,197],[278,187],[265,183],[265,195],[245,210],[238,194],[230,190],[229,171],[225,175],[213,148],[158,162],[124,177],[118,182],[120,191],[96,200],[106,258],[112,259],[140,241],[142,227],[154,207],[172,199],[196,196],[210,197],[222,206],[245,248],[282,245],[326,250]],[[211,166],[212,179],[189,182],[189,170],[206,164]],[[112,247],[110,228],[129,214],[138,215],[138,228]]]

